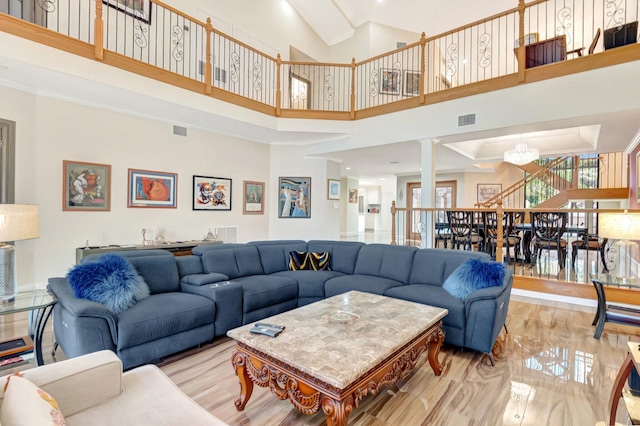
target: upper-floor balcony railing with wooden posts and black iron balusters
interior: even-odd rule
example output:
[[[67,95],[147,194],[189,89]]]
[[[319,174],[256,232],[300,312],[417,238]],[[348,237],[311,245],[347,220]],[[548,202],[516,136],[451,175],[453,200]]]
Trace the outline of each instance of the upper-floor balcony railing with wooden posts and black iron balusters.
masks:
[[[519,0],[349,64],[283,61],[161,1],[0,3],[0,31],[265,114],[353,120],[637,60],[639,3]]]

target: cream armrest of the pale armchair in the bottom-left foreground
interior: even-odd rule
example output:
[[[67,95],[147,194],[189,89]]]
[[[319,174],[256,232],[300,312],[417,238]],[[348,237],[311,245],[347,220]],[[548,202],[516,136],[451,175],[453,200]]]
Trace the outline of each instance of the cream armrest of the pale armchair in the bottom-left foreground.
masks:
[[[24,370],[24,377],[55,398],[62,414],[71,416],[122,393],[122,362],[100,351]],[[7,376],[0,377],[4,398]]]

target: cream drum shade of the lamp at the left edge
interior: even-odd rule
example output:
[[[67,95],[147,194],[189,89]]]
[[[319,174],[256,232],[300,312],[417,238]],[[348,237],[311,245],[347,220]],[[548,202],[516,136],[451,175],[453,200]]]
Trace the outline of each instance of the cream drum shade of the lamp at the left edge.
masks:
[[[37,205],[0,204],[0,242],[29,240],[39,236]]]

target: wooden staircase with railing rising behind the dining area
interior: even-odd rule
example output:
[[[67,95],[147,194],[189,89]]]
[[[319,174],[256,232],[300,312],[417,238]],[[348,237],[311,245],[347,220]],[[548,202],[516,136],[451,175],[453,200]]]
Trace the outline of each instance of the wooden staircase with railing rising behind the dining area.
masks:
[[[519,166],[526,172],[522,180],[475,206],[556,209],[572,200],[628,199],[627,158],[625,153],[610,153],[524,164]]]

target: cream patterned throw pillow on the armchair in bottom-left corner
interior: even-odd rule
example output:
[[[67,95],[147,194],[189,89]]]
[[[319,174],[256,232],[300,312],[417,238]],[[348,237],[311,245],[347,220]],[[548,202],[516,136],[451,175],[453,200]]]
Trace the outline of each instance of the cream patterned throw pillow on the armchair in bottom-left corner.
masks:
[[[64,425],[64,416],[51,395],[15,373],[7,378],[2,402],[2,424]]]

